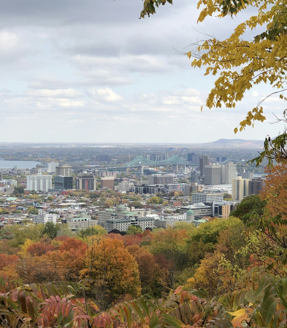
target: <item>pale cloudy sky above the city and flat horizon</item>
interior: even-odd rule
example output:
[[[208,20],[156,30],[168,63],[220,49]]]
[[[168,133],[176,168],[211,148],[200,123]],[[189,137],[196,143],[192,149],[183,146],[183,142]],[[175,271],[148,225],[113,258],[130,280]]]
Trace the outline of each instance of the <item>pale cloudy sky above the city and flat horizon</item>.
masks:
[[[197,25],[196,1],[174,0],[145,19],[141,9],[141,0],[3,1],[1,141],[196,143],[282,131],[269,124],[284,109],[276,96],[266,123],[234,135],[272,92],[263,85],[236,110],[201,113],[214,77],[174,51],[189,51],[197,31],[227,37],[246,13]]]

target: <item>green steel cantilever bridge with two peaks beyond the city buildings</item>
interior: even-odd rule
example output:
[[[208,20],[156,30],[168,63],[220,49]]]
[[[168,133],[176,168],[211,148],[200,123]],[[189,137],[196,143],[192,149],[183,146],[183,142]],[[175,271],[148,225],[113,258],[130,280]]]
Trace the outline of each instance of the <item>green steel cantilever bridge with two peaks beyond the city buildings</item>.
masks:
[[[189,166],[198,166],[197,164],[191,164],[185,159],[179,157],[178,155],[173,155],[163,161],[152,161],[143,156],[137,156],[132,161],[125,163],[120,167],[110,167],[107,168],[108,171],[117,171],[122,169],[142,167],[142,166],[165,166],[165,165],[189,165]],[[102,170],[102,169],[101,169]]]

